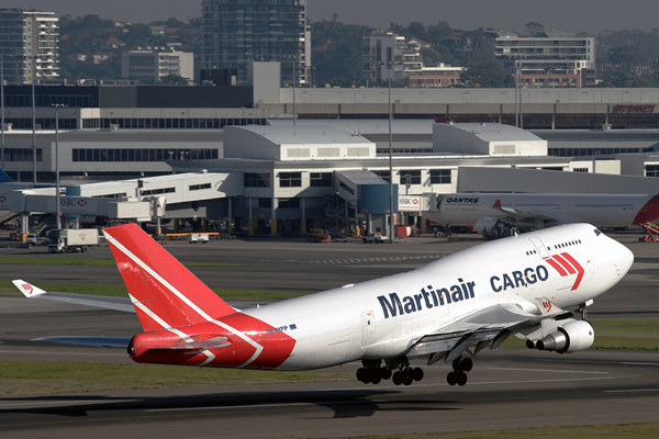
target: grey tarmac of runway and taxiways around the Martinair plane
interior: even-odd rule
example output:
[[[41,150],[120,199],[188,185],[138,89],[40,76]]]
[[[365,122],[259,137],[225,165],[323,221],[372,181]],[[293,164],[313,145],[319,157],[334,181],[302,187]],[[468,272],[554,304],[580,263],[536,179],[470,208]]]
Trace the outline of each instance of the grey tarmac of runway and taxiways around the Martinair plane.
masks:
[[[637,234],[614,235],[637,262],[590,316],[659,316],[659,245]],[[248,263],[192,268],[212,288],[320,291],[409,271],[478,241],[410,239],[399,245],[308,244],[284,240],[168,245],[183,261]],[[1,249],[0,255],[47,255]],[[107,248],[83,257],[110,258]],[[121,283],[114,267],[0,266],[3,280]],[[131,336],[133,314],[18,295],[0,296],[0,360],[127,363],[121,349],[44,345],[44,335]],[[1,363],[0,363],[1,365]],[[418,364],[422,365],[422,364]],[[358,364],[340,370],[354,373]],[[337,369],[338,370],[338,369]],[[483,351],[463,387],[446,384],[449,367],[425,367],[411,386],[390,381],[186,387],[177,390],[0,397],[2,438],[339,437],[657,420],[659,352],[589,350],[569,356],[525,349]]]

